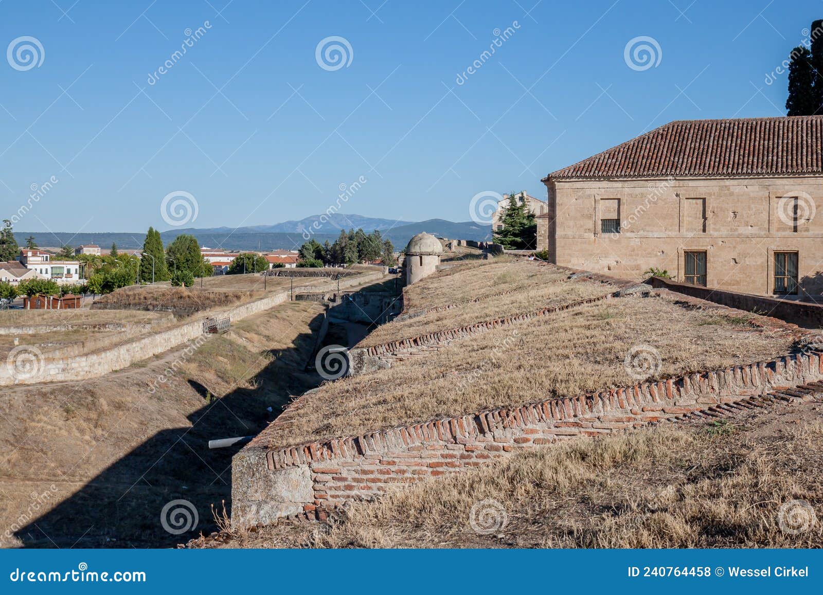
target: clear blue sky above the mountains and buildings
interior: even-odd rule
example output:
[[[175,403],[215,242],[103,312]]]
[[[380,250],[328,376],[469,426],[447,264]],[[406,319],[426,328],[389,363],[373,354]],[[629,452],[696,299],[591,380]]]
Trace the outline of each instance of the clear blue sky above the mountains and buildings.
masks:
[[[2,216],[56,179],[17,230],[170,229],[176,191],[197,202],[187,225],[266,225],[365,179],[343,212],[467,221],[477,193],[543,198],[547,173],[668,121],[783,115],[786,75],[765,79],[823,16],[817,1],[227,2],[0,2],[0,49],[42,47],[39,66],[0,60]],[[346,66],[316,59],[331,36]],[[651,67],[626,62],[638,37]]]

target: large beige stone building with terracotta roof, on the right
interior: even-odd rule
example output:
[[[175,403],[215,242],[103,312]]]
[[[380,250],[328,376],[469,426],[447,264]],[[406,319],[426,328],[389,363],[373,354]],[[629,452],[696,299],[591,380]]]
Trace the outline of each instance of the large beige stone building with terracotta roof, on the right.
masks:
[[[553,263],[821,300],[823,116],[681,120],[543,179]]]

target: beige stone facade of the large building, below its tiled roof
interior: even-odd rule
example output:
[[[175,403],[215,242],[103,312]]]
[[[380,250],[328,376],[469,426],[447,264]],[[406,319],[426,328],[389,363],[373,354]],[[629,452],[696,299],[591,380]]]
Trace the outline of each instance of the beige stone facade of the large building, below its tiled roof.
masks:
[[[801,295],[823,291],[823,218],[814,216],[823,212],[820,177],[547,184],[550,218],[540,233],[551,262],[634,279],[658,267],[683,281],[684,251],[705,251],[707,286],[771,295],[774,252],[791,251]],[[785,197],[798,198],[797,226]],[[602,233],[602,218],[619,219],[621,232]]]

